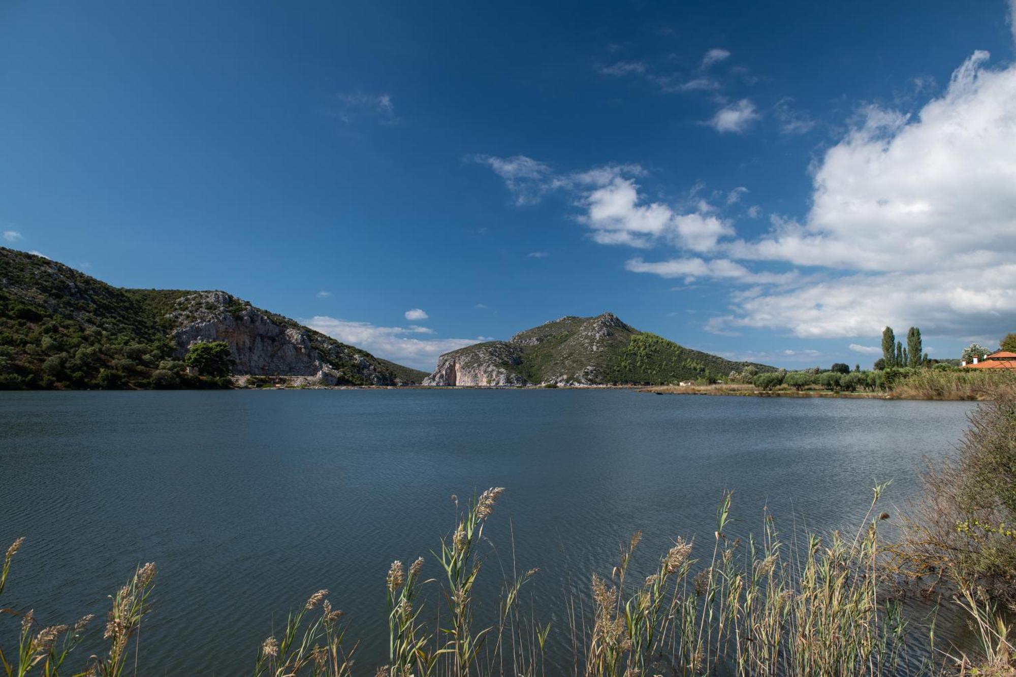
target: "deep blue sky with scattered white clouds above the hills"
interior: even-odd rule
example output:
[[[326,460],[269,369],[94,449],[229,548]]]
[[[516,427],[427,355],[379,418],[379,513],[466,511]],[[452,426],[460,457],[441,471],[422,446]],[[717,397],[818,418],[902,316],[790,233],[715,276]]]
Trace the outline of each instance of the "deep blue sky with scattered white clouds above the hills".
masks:
[[[0,3],[0,245],[375,355],[1016,331],[1016,0]]]

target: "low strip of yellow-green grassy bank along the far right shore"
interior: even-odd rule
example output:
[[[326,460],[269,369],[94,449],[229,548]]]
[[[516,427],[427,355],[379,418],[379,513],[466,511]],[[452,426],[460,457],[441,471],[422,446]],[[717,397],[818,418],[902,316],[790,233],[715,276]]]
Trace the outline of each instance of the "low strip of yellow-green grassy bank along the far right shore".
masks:
[[[659,394],[751,395],[761,397],[876,397],[883,399],[952,399],[982,402],[1000,395],[1016,396],[1016,373],[982,370],[939,371],[920,369],[882,385],[865,389],[828,388],[822,385],[795,387],[779,384],[760,387],[750,383],[657,385],[640,392]]]

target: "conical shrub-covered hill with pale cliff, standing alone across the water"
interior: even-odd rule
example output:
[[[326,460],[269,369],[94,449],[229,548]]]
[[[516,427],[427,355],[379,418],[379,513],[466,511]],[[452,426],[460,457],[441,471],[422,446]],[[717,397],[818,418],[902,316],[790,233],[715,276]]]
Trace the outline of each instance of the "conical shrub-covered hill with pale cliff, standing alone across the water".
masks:
[[[567,316],[520,331],[511,341],[446,353],[430,385],[650,384],[724,377],[752,365],[639,331],[612,313]]]

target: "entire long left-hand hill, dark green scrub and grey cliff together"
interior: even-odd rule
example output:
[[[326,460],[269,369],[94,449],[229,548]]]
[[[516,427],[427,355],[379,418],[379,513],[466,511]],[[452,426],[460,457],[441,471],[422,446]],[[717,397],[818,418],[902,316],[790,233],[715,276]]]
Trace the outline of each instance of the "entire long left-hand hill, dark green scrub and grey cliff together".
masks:
[[[214,341],[229,344],[236,374],[350,385],[427,375],[225,292],[119,289],[0,247],[0,388],[221,386],[182,361]]]

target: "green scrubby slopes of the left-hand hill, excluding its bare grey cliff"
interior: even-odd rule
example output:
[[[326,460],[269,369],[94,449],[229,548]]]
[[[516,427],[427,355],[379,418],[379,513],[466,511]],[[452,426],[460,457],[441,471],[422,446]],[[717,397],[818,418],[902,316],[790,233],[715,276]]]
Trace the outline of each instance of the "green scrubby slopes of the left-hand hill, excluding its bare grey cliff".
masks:
[[[192,307],[194,299],[211,297],[228,298],[230,305]],[[172,375],[164,380],[169,385],[226,385],[189,375],[183,347],[174,341],[174,330],[202,312],[205,320],[246,314],[296,329],[340,383],[420,382],[426,376],[229,295],[119,289],[43,256],[0,247],[0,388],[151,387],[156,371]]]

